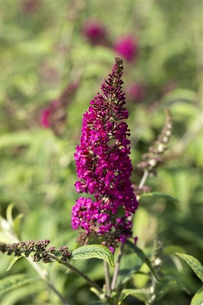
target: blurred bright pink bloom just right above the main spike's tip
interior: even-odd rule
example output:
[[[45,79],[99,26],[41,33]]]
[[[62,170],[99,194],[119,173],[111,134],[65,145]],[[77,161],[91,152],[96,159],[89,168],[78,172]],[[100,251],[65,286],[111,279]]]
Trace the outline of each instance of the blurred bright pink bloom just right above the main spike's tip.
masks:
[[[127,60],[132,62],[138,53],[138,42],[132,36],[119,38],[114,44],[114,50]]]

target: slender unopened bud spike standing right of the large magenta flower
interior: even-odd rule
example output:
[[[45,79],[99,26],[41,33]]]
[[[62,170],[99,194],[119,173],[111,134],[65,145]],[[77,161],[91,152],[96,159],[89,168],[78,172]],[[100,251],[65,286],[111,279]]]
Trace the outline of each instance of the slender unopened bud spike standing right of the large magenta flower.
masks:
[[[137,165],[139,168],[147,169],[151,175],[156,175],[154,167],[163,162],[163,159],[160,157],[160,155],[163,154],[167,149],[168,141],[172,135],[172,128],[172,116],[170,111],[166,109],[165,125],[154,145],[149,147],[149,152],[142,156],[143,161]]]

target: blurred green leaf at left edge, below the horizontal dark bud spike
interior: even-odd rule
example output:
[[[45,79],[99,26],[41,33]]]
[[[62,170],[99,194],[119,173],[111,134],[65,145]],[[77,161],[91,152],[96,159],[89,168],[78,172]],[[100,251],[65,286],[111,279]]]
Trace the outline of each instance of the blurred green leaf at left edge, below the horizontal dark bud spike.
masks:
[[[39,281],[39,277],[31,275],[12,275],[0,280],[0,295],[28,283]]]

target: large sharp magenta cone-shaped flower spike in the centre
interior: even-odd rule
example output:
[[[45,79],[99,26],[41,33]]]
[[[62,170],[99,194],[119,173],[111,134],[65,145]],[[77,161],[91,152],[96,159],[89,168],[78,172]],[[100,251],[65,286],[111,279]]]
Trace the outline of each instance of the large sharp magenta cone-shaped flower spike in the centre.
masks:
[[[94,200],[80,197],[72,211],[73,229],[84,229],[86,237],[103,238],[110,249],[131,237],[128,217],[138,207],[130,182],[130,134],[123,121],[128,117],[121,89],[123,64],[120,57],[115,60],[109,79],[101,85],[103,95],[98,93],[84,114],[76,147],[76,191],[89,193]]]

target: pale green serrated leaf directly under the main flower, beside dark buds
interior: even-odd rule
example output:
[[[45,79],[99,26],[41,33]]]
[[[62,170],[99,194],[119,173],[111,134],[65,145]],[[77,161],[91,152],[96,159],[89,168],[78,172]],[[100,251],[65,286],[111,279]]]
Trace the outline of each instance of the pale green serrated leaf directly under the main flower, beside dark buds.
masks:
[[[101,245],[88,245],[80,247],[72,252],[72,259],[104,259],[110,266],[114,267],[114,256],[111,251]]]

